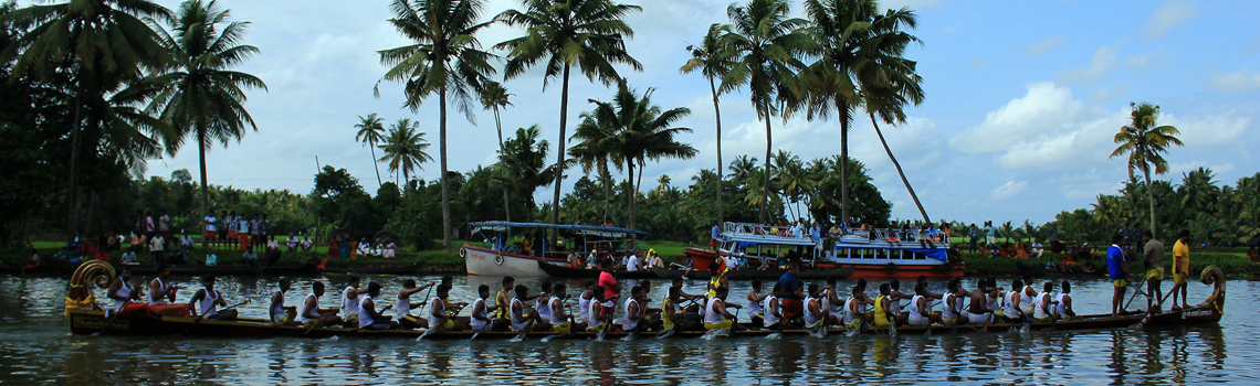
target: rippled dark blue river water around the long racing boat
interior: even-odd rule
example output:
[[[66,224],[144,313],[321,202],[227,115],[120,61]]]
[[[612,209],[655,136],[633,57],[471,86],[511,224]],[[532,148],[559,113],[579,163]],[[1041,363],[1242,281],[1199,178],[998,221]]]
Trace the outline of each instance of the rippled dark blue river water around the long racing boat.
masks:
[[[144,279],[149,279],[147,277]],[[174,278],[186,287],[194,278]],[[393,298],[407,278],[365,278]],[[415,278],[420,283],[436,277]],[[278,278],[219,278],[228,303],[246,297],[243,316],[265,317]],[[289,304],[309,292],[295,279]],[[345,278],[324,279],[320,304],[339,304]],[[538,280],[518,283],[536,288]],[[566,280],[572,287],[578,280]],[[471,301],[493,278],[455,278],[452,301]],[[653,280],[653,299],[667,283]],[[820,283],[822,284],[822,283]],[[1009,284],[1009,283],[1008,283]],[[703,282],[684,292],[701,293]],[[748,283],[732,283],[742,304]],[[842,284],[844,285],[844,284]],[[1166,283],[1166,289],[1169,287]],[[1191,283],[1191,299],[1208,288]],[[72,336],[60,312],[64,278],[0,277],[0,383],[1201,383],[1257,382],[1260,338],[1245,323],[1256,313],[1257,282],[1230,282],[1220,326],[1087,332],[827,336],[781,338],[640,338],[624,342],[532,337],[509,341],[368,338],[232,339]],[[935,292],[941,284],[934,283]],[[974,280],[966,280],[974,288]],[[1110,283],[1074,282],[1079,313],[1110,307]],[[103,290],[98,290],[103,293]],[[572,293],[572,292],[571,292]],[[413,295],[422,301],[423,292]],[[418,299],[417,299],[418,298]],[[658,304],[654,301],[653,304]],[[1134,303],[1143,303],[1138,299]],[[382,303],[383,306],[384,303]],[[741,318],[747,318],[742,316]]]

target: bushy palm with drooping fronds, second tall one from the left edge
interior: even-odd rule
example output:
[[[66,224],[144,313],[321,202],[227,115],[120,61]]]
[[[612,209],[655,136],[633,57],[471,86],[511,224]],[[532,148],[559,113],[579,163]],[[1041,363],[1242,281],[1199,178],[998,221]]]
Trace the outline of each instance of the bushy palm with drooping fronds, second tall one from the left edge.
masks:
[[[257,54],[258,48],[239,44],[249,23],[228,21],[229,16],[231,10],[220,9],[214,0],[183,3],[171,24],[173,34],[158,30],[171,63],[149,80],[160,89],[149,109],[178,130],[166,152],[174,155],[184,137],[197,140],[203,214],[209,212],[205,151],[212,143],[239,142],[247,124],[257,132],[258,126],[244,109],[244,91],[267,89],[262,79],[231,69]]]

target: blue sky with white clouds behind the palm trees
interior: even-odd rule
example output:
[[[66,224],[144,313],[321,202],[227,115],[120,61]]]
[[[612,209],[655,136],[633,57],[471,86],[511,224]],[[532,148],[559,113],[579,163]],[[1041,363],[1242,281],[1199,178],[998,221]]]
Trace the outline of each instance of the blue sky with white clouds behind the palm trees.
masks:
[[[178,6],[174,0],[158,3]],[[679,73],[679,67],[689,55],[685,47],[698,43],[709,24],[727,23],[730,3],[627,3],[643,6],[627,19],[635,30],[627,50],[644,70],[619,72],[640,92],[655,88],[654,101],[663,108],[690,108],[678,124],[694,132],[679,140],[699,150],[692,160],[649,165],[645,181],[669,175],[675,186],[684,186],[717,161],[708,83],[698,73]],[[353,127],[369,113],[387,124],[418,121],[437,157],[436,98],[411,112],[402,108],[397,84],[381,84],[381,97],[373,96],[386,70],[375,52],[408,44],[387,23],[387,1],[219,4],[232,10],[233,20],[252,23],[244,43],[261,53],[239,70],[262,78],[267,91],[251,91],[246,104],[258,131],[207,155],[210,184],[306,194],[318,167],[331,165],[375,192],[372,155],[355,142]],[[515,0],[489,1],[484,18],[515,6]],[[801,14],[800,1],[791,6]],[[1099,194],[1115,194],[1128,174],[1124,160],[1108,156],[1114,135],[1128,123],[1130,102],[1159,104],[1159,123],[1182,133],[1186,146],[1171,150],[1171,172],[1159,179],[1176,184],[1186,171],[1210,167],[1216,181],[1232,185],[1260,171],[1252,146],[1260,140],[1260,29],[1254,21],[1260,3],[900,0],[881,6],[906,6],[919,15],[912,33],[924,44],[907,57],[919,62],[926,99],[907,108],[906,123],[881,128],[934,220],[1041,224],[1060,211],[1089,207]],[[499,25],[478,38],[489,48],[522,33]],[[505,85],[514,106],[503,112],[504,131],[539,124],[554,151],[558,83],[544,91],[541,69],[532,69]],[[612,94],[575,75],[570,124],[590,109],[587,99]],[[726,162],[737,155],[762,158],[765,126],[746,93],[722,97],[722,123]],[[806,161],[839,153],[834,118],[775,118],[772,127],[776,150]],[[852,156],[869,167],[874,185],[893,204],[893,218],[919,218],[869,119],[858,118],[850,131]],[[452,113],[450,168],[493,163],[494,138],[490,112],[478,109],[475,124]],[[186,147],[151,161],[149,175],[169,176],[179,168],[195,174],[197,163],[195,147]],[[386,165],[381,168],[382,177],[391,179]],[[438,170],[437,162],[427,163],[418,177],[435,181]],[[564,190],[578,172],[571,172]],[[551,201],[551,187],[537,196]]]

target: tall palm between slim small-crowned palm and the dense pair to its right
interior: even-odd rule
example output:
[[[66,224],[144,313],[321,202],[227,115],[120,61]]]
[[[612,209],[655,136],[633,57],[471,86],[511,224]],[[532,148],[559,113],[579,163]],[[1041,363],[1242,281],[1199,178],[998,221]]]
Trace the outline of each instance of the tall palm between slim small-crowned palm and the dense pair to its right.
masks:
[[[750,0],[747,5],[727,8],[732,31],[726,44],[735,53],[735,64],[722,77],[722,91],[747,84],[757,118],[766,122],[766,170],[770,170],[770,118],[779,112],[775,101],[791,98],[786,87],[794,70],[805,65],[796,59],[814,49],[814,41],[803,29],[804,19],[788,18],[789,6],[782,0]],[[770,174],[765,174],[761,194],[770,195]],[[761,201],[759,221],[766,221],[766,200]]]

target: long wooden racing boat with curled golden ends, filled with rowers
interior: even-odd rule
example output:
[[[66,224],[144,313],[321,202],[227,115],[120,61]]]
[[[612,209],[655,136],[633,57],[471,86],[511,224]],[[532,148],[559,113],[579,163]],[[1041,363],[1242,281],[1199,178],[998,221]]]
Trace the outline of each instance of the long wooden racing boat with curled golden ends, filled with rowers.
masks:
[[[66,317],[72,333],[76,334],[127,334],[127,336],[207,336],[207,337],[392,337],[392,338],[420,338],[426,339],[469,339],[469,338],[515,338],[522,336],[518,332],[481,332],[450,331],[433,332],[426,334],[421,329],[359,329],[340,327],[305,327],[305,326],[273,326],[266,319],[242,318],[239,321],[213,321],[195,319],[186,317],[122,317],[107,316],[92,298],[89,287],[105,288],[113,278],[113,269],[101,262],[88,262],[76,270],[71,279],[69,297],[66,299]],[[1169,313],[1143,313],[1128,312],[1119,317],[1111,316],[1079,316],[1070,321],[1056,321],[1050,323],[992,323],[954,326],[925,326],[925,327],[897,327],[897,328],[864,328],[853,333],[866,334],[930,334],[930,333],[971,333],[971,332],[1004,332],[1013,329],[1031,331],[1080,331],[1125,328],[1138,324],[1143,326],[1183,326],[1188,323],[1216,323],[1220,322],[1225,306],[1225,275],[1220,268],[1208,267],[1202,274],[1205,284],[1213,284],[1212,294],[1200,306]],[[741,323],[741,327],[750,326]],[[733,331],[732,337],[765,337],[780,331],[753,329]],[[823,334],[823,331],[785,329],[785,336]],[[847,334],[849,329],[843,327],[828,328],[825,334]],[[605,338],[626,337],[630,333],[622,331],[606,331]],[[655,337],[658,334],[670,334],[674,337],[697,337],[706,334],[704,331],[677,331],[677,332],[643,332],[641,337]],[[561,338],[596,338],[600,333],[591,331],[558,334],[552,332],[529,332],[533,337],[556,336]]]

